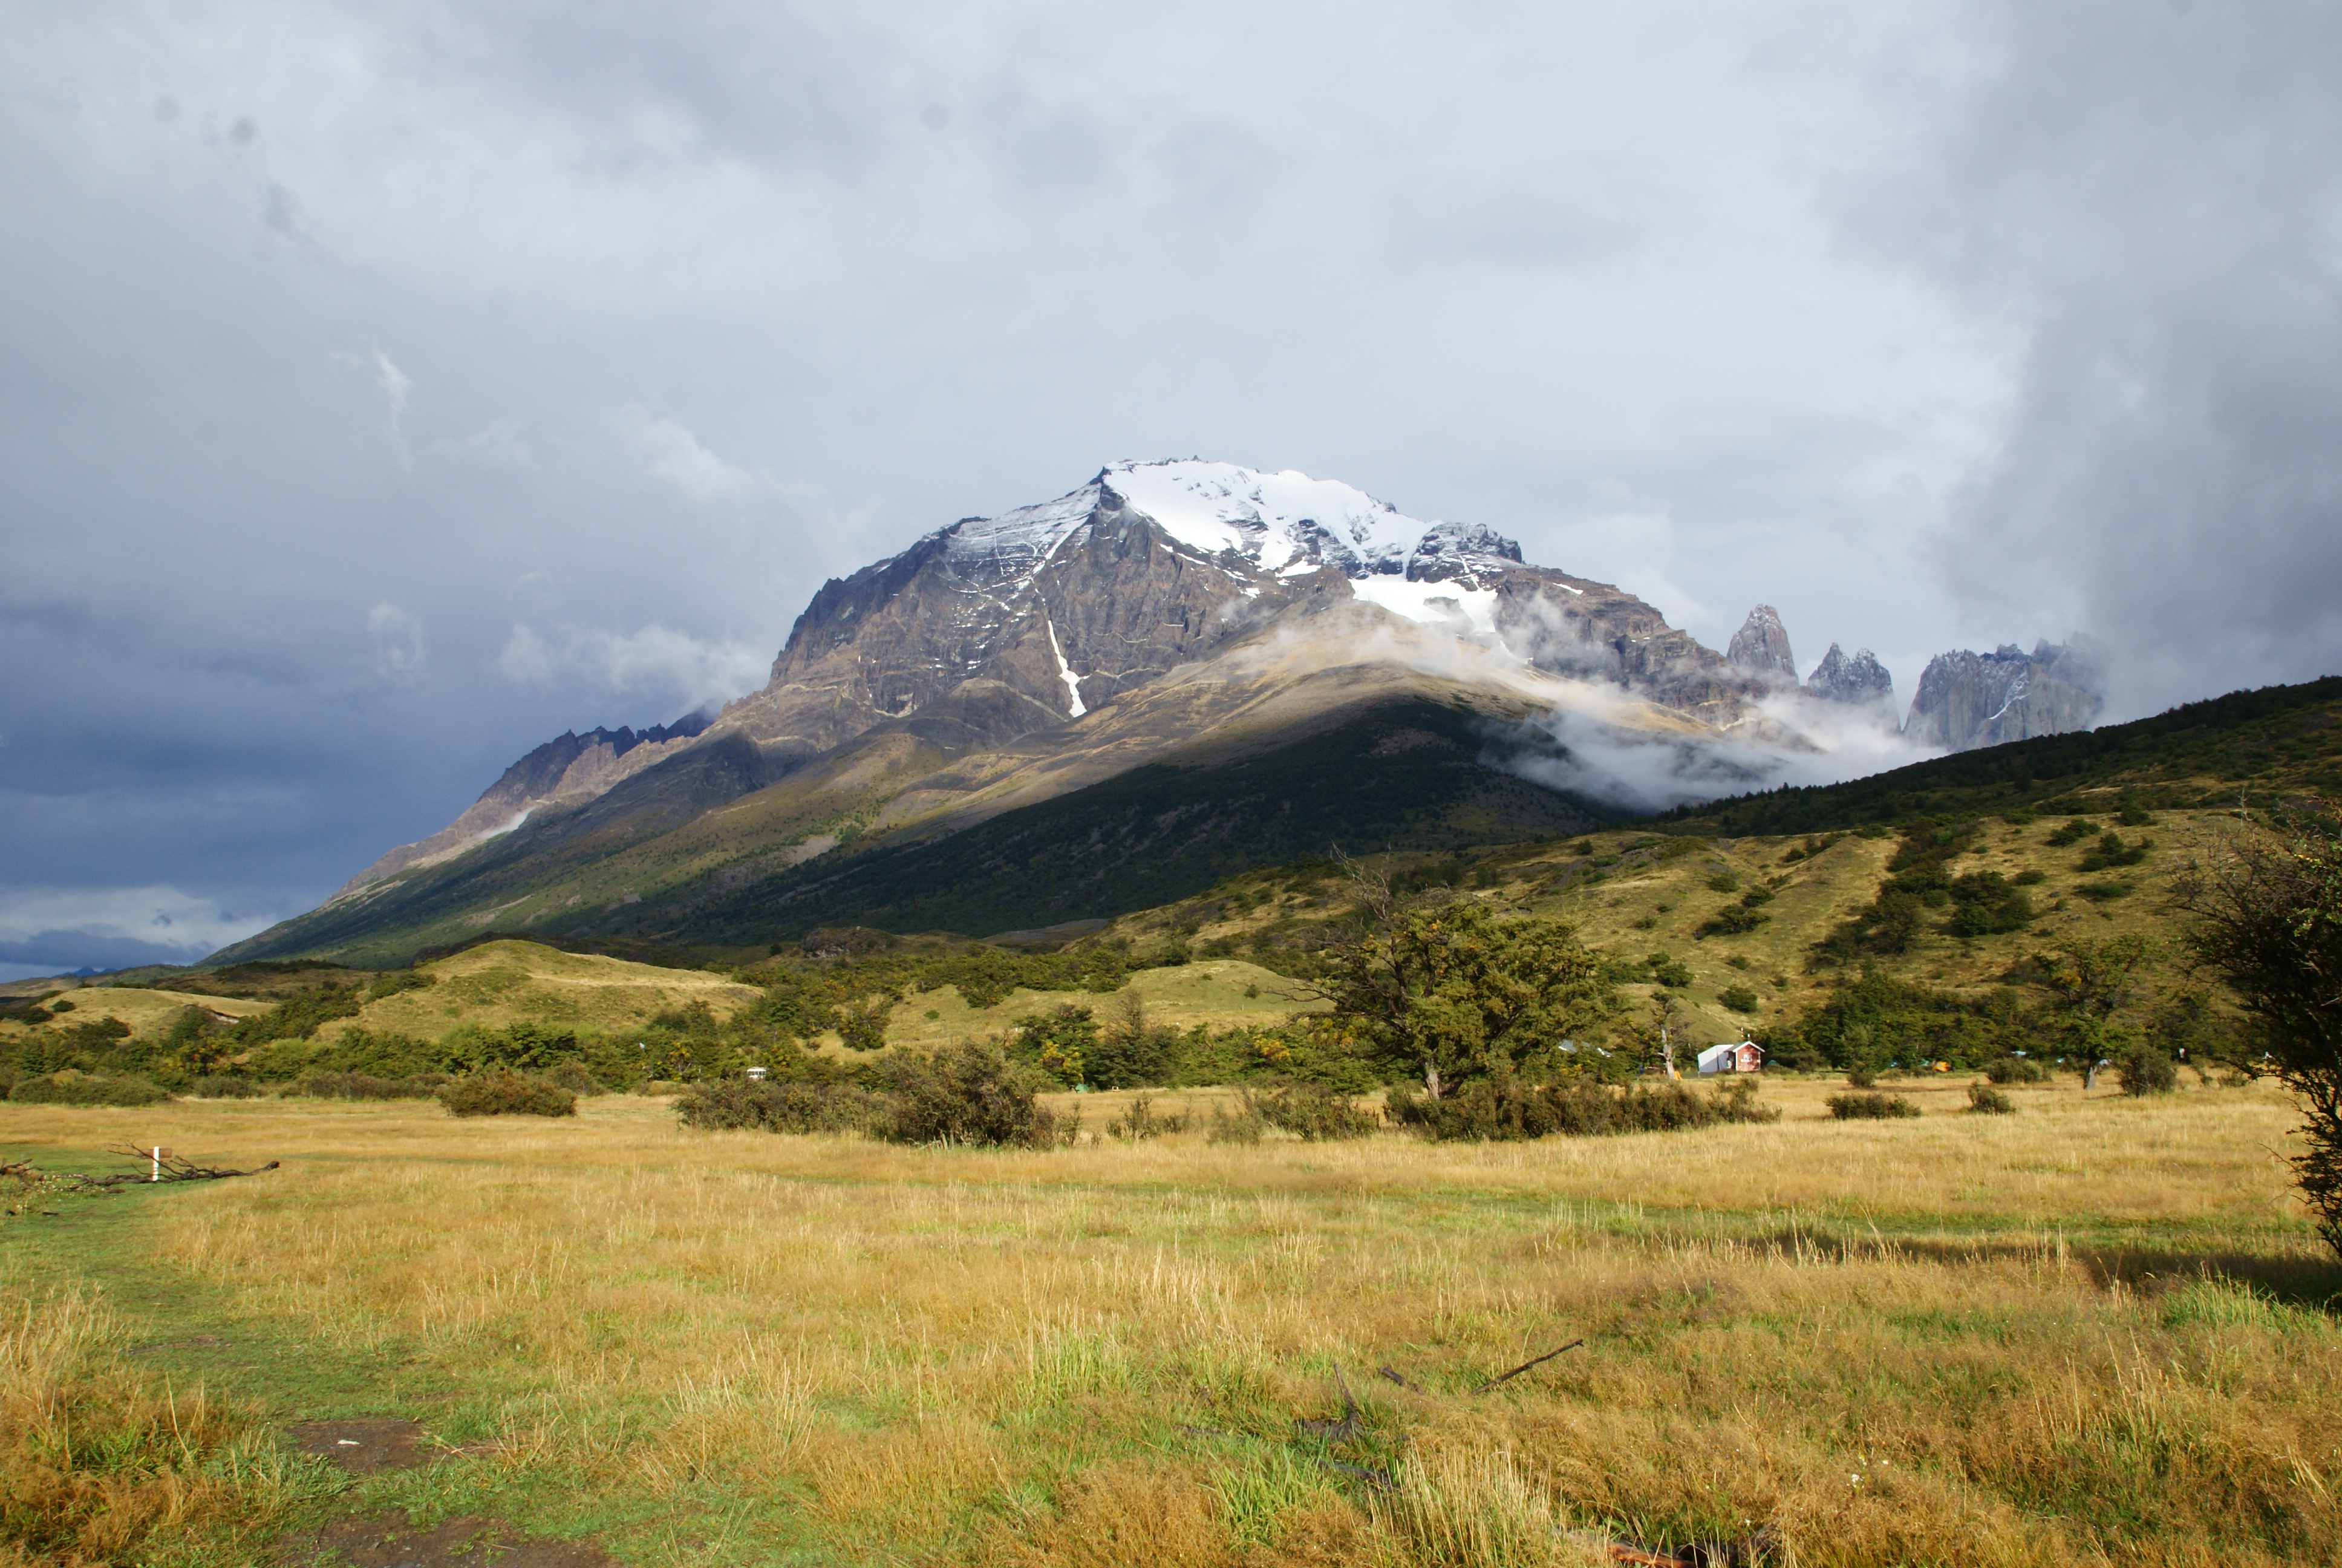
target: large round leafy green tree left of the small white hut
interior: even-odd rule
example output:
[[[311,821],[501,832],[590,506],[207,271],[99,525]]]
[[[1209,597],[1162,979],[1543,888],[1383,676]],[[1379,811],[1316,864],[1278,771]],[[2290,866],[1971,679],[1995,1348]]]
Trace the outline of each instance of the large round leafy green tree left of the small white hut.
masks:
[[[1475,900],[1403,905],[1354,872],[1363,923],[1321,952],[1314,994],[1391,1076],[1438,1099],[1492,1073],[1583,1071],[1560,1043],[1607,1020],[1616,989],[1562,921],[1497,916]]]

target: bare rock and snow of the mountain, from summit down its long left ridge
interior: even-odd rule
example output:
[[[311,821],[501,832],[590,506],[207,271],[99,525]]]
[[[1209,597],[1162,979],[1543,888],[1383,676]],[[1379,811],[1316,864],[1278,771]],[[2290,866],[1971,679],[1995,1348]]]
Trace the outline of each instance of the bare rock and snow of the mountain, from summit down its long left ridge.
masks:
[[[1424,523],[1302,473],[1115,464],[1054,502],[960,518],[822,584],[761,691],[689,734],[550,741],[445,830],[391,851],[340,895],[511,832],[555,802],[590,809],[539,818],[539,837],[665,830],[864,738],[944,762],[977,755],[958,773],[986,773],[1002,748],[1173,670],[1234,649],[1251,666],[1276,663],[1262,649],[1330,628],[1349,649],[1337,663],[1370,661],[1361,638],[1382,628],[1398,640],[1384,656],[1401,663],[1497,654],[1707,724],[1731,722],[1761,689],[1635,595],[1527,565],[1490,527]]]

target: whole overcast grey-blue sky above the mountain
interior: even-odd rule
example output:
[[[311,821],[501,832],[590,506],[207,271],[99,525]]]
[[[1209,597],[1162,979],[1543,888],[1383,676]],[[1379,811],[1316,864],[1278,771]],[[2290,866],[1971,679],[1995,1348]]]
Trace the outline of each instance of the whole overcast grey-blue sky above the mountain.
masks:
[[[0,21],[0,975],[314,905],[1117,457],[1801,666],[2342,668],[2342,7]]]

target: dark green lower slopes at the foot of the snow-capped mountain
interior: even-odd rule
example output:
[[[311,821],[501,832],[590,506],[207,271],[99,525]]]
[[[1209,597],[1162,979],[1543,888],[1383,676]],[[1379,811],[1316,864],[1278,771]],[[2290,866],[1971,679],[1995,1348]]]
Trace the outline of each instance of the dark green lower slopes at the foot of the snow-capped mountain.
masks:
[[[593,806],[548,811],[220,961],[403,963],[487,930],[728,949],[845,923],[981,935],[1108,919],[1333,848],[1447,851],[1618,820],[1494,766],[1490,748],[1482,715],[1401,701],[1232,762],[1131,769],[951,837],[876,827],[932,755],[857,755],[621,846],[595,830]],[[775,853],[813,832],[834,848]]]

